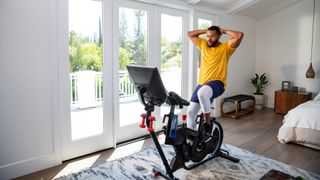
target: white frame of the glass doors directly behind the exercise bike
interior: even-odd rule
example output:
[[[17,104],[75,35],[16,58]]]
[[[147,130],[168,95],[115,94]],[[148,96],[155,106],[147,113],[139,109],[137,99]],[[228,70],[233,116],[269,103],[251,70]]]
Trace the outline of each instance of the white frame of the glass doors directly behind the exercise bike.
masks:
[[[180,9],[174,9],[174,8],[169,8],[165,6],[159,6],[159,5],[154,5],[154,4],[149,4],[149,3],[143,3],[143,2],[137,2],[137,1],[129,1],[129,0],[114,0],[114,22],[113,22],[113,27],[114,28],[114,36],[116,37],[113,39],[113,47],[114,47],[114,53],[113,53],[113,59],[114,59],[114,64],[113,64],[113,71],[118,72],[118,51],[119,51],[119,42],[118,38],[119,37],[119,7],[125,7],[125,8],[132,8],[132,9],[142,9],[146,10],[148,12],[148,20],[147,20],[147,33],[148,33],[148,66],[156,66],[158,69],[161,71],[161,62],[160,62],[160,56],[161,56],[161,13],[168,14],[168,15],[174,15],[174,16],[181,16],[182,17],[182,37],[184,34],[186,35],[188,27],[189,27],[189,13],[188,11],[183,11]],[[152,24],[153,23],[153,24]],[[157,24],[156,24],[157,23]],[[182,87],[187,87],[188,86],[188,76],[183,76],[185,74],[188,74],[187,67],[188,65],[188,59],[189,59],[189,54],[188,54],[188,49],[189,49],[189,42],[188,39],[182,38],[182,44],[183,44],[183,63],[182,63]],[[120,109],[119,109],[119,92],[118,92],[118,84],[119,84],[119,79],[118,76],[114,76],[113,79],[114,83],[114,129],[115,129],[115,141],[121,142],[124,140],[122,138],[122,135],[120,135]],[[182,88],[182,94],[183,97],[188,96],[188,91],[186,89]],[[160,108],[156,108],[153,115],[156,117],[156,119],[162,119],[160,117]],[[140,118],[140,117],[133,117],[133,118]],[[139,128],[138,124],[134,124],[132,128]],[[161,130],[162,125],[160,123],[156,123],[154,125],[154,128],[156,130]],[[137,130],[139,131],[139,130]],[[134,137],[139,137],[148,134],[147,131],[140,131],[140,133],[133,133],[132,136]],[[127,140],[127,139],[126,139]]]

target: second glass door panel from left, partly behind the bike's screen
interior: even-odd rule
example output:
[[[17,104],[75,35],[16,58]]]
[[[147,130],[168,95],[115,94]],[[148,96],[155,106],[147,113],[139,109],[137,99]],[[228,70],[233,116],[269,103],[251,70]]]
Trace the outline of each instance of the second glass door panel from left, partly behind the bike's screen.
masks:
[[[135,3],[133,3],[135,5]],[[131,83],[127,65],[148,64],[148,11],[136,6],[119,6],[119,127],[117,142],[146,134],[140,129],[140,115],[144,107]]]

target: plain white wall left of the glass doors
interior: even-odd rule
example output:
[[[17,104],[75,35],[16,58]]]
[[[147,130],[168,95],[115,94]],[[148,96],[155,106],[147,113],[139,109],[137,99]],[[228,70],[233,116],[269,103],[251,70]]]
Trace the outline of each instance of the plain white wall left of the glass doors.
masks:
[[[0,1],[0,179],[56,164],[49,0]]]

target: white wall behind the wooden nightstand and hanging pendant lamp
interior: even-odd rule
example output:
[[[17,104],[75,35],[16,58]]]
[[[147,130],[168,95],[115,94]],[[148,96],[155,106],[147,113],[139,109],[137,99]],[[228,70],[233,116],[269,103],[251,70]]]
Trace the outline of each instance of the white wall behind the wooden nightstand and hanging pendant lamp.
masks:
[[[274,106],[274,91],[281,89],[282,81],[307,91],[320,91],[320,3],[316,1],[313,68],[315,79],[305,73],[310,62],[313,1],[301,1],[257,22],[256,65],[258,73],[266,72],[270,85],[265,90],[266,105]]]

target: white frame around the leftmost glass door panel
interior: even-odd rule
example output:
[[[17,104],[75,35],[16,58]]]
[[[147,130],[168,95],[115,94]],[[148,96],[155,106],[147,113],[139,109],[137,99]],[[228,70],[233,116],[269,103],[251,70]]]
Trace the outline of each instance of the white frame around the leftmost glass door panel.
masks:
[[[111,27],[112,24],[112,1],[101,1],[102,3],[102,25],[103,27]],[[102,149],[115,147],[114,131],[113,131],[113,98],[112,94],[112,44],[108,44],[108,39],[112,39],[112,28],[103,28],[103,136],[88,137],[83,140],[72,142],[71,139],[71,112],[70,112],[70,82],[69,82],[69,48],[68,48],[68,1],[58,1],[58,77],[59,77],[59,124],[55,127],[54,136],[61,139],[58,142],[61,145],[59,151],[60,159],[67,160],[84,154],[96,152]],[[67,18],[66,18],[67,17]],[[106,116],[108,115],[108,116]],[[101,143],[95,143],[97,141]],[[81,142],[82,141],[82,142]],[[70,153],[70,148],[83,148],[86,144],[87,150]],[[73,146],[73,147],[70,147]]]

